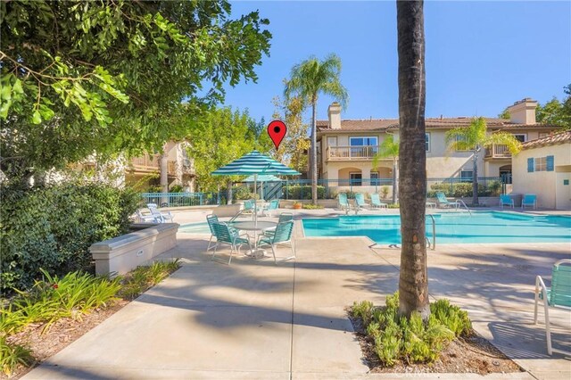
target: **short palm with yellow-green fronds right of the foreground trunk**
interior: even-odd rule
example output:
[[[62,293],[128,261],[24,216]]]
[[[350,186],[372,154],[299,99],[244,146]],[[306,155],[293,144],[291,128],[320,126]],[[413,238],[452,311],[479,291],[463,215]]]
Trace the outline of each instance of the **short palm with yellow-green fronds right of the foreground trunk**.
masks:
[[[446,145],[451,151],[472,152],[472,205],[478,204],[478,155],[482,148],[494,144],[507,145],[509,152],[516,154],[521,149],[521,143],[508,132],[496,132],[488,135],[488,127],[484,118],[474,118],[469,127],[452,128],[446,132]]]

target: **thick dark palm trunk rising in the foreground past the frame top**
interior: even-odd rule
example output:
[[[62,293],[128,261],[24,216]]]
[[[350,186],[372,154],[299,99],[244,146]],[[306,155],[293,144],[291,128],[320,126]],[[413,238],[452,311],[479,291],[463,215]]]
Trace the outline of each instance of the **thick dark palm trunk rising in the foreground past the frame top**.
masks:
[[[426,270],[425,31],[423,1],[397,1],[401,274],[399,313],[430,315]]]

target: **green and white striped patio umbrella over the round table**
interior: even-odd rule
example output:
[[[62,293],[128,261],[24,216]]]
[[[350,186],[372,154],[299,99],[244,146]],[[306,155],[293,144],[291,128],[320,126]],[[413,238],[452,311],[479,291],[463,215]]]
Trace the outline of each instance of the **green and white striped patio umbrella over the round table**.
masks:
[[[249,176],[253,175],[253,186],[256,188],[258,176],[274,175],[274,176],[300,176],[302,173],[292,168],[286,167],[283,163],[269,158],[267,155],[258,151],[252,151],[244,154],[239,159],[228,163],[222,168],[216,169],[211,173],[213,176]],[[257,221],[257,206],[254,202],[254,221]]]

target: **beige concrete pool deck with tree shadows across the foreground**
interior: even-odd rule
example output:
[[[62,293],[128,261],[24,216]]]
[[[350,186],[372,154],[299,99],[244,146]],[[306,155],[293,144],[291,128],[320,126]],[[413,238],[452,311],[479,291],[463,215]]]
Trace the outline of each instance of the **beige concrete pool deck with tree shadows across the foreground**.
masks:
[[[179,234],[162,257],[183,258],[182,268],[24,378],[410,376],[368,374],[345,311],[354,301],[382,304],[396,290],[400,250],[300,233],[297,222],[297,260],[278,266],[243,257],[231,266],[213,262],[204,252],[209,235]],[[544,326],[533,325],[535,276],[549,279],[553,262],[570,257],[569,244],[443,244],[429,252],[431,296],[468,310],[478,333],[526,370],[486,378],[571,377],[571,360],[549,357]],[[571,315],[552,310],[551,321],[554,346],[568,350]]]

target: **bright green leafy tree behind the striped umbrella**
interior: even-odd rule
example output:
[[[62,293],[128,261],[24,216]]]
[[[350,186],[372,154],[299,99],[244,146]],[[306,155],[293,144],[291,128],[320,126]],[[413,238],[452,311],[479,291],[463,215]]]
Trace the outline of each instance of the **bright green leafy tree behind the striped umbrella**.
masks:
[[[271,141],[267,134],[255,136],[248,112],[232,111],[231,108],[213,110],[194,123],[186,137],[190,142],[188,155],[194,158],[196,179],[201,191],[218,191],[220,187],[231,187],[233,181],[243,179],[237,176],[212,176],[211,172],[242,157],[253,149],[269,152]],[[228,202],[231,196],[228,196]]]

